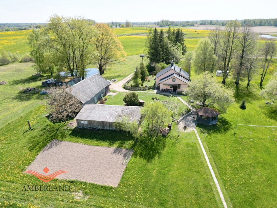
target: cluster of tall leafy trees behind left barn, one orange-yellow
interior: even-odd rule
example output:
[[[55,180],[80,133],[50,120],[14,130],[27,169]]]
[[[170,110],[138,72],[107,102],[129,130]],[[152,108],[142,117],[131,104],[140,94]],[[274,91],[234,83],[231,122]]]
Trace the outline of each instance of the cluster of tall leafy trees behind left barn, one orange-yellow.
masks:
[[[86,68],[95,64],[102,75],[107,67],[126,56],[123,47],[107,24],[83,18],[53,15],[40,30],[28,36],[34,68],[53,75],[67,70],[84,79]]]

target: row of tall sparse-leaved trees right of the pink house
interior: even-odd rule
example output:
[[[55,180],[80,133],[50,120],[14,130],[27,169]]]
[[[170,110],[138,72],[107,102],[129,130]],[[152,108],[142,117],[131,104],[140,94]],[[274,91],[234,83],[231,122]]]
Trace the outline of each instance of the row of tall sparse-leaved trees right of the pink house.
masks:
[[[242,27],[239,21],[229,21],[223,30],[217,28],[211,31],[208,38],[199,41],[194,54],[187,54],[181,66],[190,73],[191,64],[196,73],[219,70],[222,73],[222,83],[233,75],[238,85],[240,77],[247,77],[250,86],[252,75],[257,69],[260,73],[260,86],[272,66],[277,52],[276,41],[267,40],[258,44],[256,36],[249,25]]]

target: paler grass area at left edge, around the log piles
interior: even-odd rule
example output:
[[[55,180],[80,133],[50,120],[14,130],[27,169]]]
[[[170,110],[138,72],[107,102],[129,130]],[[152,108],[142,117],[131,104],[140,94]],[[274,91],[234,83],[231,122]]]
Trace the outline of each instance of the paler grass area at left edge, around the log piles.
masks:
[[[41,81],[31,79],[33,63],[14,63],[0,66],[0,79],[8,84],[0,85],[0,128],[40,105],[44,95],[19,93],[26,87],[41,88]],[[26,121],[25,121],[26,122]]]

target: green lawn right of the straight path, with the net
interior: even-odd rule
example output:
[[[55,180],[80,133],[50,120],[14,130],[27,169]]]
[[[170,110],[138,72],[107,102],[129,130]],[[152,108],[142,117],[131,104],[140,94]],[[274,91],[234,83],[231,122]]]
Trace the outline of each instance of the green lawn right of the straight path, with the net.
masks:
[[[267,74],[264,85],[269,78]],[[227,85],[235,89],[231,78]],[[277,104],[266,105],[260,91],[259,75],[254,76],[249,88],[242,79],[235,89],[235,104],[219,116],[218,124],[197,125],[227,192],[225,197],[230,199],[229,207],[276,207],[277,204],[277,128],[237,126],[234,135],[237,123],[277,126]],[[239,108],[243,99],[246,110]]]

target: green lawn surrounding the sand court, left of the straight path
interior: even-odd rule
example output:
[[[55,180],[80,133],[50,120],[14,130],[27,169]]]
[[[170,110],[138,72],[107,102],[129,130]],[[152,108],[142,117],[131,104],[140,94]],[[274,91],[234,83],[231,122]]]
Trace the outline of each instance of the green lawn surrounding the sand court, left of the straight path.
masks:
[[[43,117],[45,107],[28,112],[0,129],[0,203],[1,207],[220,207],[212,181],[207,174],[203,155],[194,132],[181,133],[173,125],[165,147],[155,148],[159,157],[151,162],[151,149],[143,142],[117,131],[64,129],[63,123],[52,124]],[[30,120],[32,131],[27,131]],[[22,191],[23,185],[44,185],[23,171],[53,139],[90,145],[133,148],[134,154],[118,187],[79,181],[53,179],[47,185],[70,185],[69,192]],[[176,142],[175,142],[176,141]],[[151,154],[152,155],[152,154]],[[75,199],[72,192],[83,191]]]

